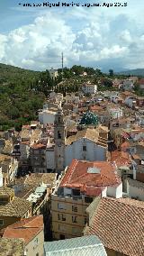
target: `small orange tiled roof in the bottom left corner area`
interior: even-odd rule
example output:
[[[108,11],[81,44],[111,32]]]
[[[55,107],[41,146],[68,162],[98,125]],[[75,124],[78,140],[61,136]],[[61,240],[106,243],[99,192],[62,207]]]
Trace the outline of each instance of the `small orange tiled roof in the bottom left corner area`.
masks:
[[[6,227],[3,237],[23,238],[24,242],[28,243],[42,230],[43,216],[33,216]]]

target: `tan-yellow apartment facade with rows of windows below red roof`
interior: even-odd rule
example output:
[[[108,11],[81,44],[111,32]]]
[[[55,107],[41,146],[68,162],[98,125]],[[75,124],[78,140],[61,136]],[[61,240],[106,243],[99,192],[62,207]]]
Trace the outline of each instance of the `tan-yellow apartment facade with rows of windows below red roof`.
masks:
[[[82,235],[87,215],[85,209],[93,197],[51,196],[53,238],[65,239]]]

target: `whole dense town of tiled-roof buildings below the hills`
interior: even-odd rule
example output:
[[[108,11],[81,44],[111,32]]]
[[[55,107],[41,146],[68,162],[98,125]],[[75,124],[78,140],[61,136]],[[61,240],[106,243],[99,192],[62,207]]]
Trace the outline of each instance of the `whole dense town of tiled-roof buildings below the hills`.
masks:
[[[0,132],[2,256],[144,255],[144,79],[79,76]]]

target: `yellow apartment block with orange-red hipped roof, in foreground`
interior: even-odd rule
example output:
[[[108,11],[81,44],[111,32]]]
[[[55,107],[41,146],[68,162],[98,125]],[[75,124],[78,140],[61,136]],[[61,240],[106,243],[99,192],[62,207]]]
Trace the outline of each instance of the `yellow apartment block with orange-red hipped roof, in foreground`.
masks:
[[[95,197],[122,197],[121,179],[110,162],[73,160],[51,195],[53,238],[82,235],[85,209]]]

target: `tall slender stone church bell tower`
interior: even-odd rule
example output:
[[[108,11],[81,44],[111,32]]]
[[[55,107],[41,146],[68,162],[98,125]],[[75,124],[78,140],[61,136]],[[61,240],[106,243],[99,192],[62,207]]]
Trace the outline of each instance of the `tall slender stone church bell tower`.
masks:
[[[55,115],[54,140],[56,172],[59,173],[64,169],[66,142],[66,126],[64,123],[63,111],[60,106],[58,106],[58,112]]]

